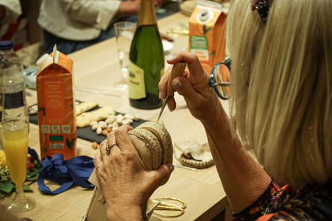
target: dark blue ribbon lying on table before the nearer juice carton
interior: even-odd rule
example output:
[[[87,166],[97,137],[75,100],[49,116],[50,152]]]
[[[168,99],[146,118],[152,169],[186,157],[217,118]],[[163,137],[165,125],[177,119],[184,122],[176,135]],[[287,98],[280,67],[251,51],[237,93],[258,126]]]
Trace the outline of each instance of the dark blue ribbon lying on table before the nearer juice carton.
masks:
[[[42,169],[39,172],[37,184],[44,194],[55,195],[66,191],[73,184],[83,188],[91,188],[88,181],[93,169],[93,158],[78,156],[64,161],[64,155],[56,154],[53,157],[44,157]],[[44,179],[51,180],[61,186],[55,191],[50,191]]]

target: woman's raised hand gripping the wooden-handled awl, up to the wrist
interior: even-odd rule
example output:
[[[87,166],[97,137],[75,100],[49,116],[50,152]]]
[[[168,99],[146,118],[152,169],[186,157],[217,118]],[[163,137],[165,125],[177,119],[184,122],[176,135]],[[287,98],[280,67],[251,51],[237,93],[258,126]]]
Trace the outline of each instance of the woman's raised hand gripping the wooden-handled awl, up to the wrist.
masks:
[[[175,77],[172,80],[173,88],[182,95],[187,103],[190,113],[201,122],[213,122],[216,119],[221,104],[212,88],[209,86],[209,77],[203,69],[201,62],[196,54],[192,52],[176,51],[172,59],[168,59],[169,64],[178,61],[187,63],[187,70],[183,77]],[[167,83],[172,67],[169,67],[159,82],[161,98],[165,99]],[[174,97],[169,97],[167,102],[169,109],[176,108]]]

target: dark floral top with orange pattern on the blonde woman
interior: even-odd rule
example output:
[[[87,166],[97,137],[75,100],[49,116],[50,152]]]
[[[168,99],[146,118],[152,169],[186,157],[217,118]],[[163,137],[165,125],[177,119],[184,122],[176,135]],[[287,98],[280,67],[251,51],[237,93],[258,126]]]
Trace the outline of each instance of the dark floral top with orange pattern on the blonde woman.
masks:
[[[256,202],[233,214],[233,220],[332,220],[332,180],[293,189],[272,181]]]

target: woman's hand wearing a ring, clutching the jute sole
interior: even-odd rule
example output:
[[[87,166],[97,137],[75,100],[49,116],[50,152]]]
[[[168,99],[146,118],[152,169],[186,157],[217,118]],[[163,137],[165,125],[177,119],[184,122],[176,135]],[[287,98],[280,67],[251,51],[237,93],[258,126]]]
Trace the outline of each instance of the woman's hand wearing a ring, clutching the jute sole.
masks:
[[[147,200],[174,169],[167,164],[147,170],[129,138],[132,129],[124,125],[109,133],[94,158],[109,220],[143,220]],[[115,144],[108,153],[107,144]]]

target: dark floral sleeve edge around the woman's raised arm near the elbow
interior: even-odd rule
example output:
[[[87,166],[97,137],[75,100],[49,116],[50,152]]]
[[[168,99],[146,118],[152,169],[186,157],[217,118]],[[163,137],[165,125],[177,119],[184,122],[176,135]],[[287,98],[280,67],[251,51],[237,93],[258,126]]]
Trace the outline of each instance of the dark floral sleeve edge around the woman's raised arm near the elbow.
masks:
[[[240,213],[233,213],[233,221],[239,220],[257,220],[261,215],[264,215],[268,204],[273,203],[280,195],[280,187],[272,180],[268,189],[256,200],[251,206]]]

